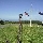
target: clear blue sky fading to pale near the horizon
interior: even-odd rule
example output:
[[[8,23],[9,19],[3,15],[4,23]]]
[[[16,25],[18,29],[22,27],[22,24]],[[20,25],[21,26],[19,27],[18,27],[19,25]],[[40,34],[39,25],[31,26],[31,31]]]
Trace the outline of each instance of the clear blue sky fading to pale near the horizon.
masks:
[[[43,12],[43,0],[0,0],[0,19],[18,20],[23,14],[23,20],[43,20],[39,12]]]

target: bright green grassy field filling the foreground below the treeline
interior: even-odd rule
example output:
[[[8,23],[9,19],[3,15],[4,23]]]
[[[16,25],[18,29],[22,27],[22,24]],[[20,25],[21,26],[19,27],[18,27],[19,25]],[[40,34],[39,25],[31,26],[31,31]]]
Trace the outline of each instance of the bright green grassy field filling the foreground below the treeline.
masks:
[[[23,25],[23,43],[43,43],[43,26],[37,26]],[[18,24],[0,25],[0,43],[17,43],[18,28]]]

